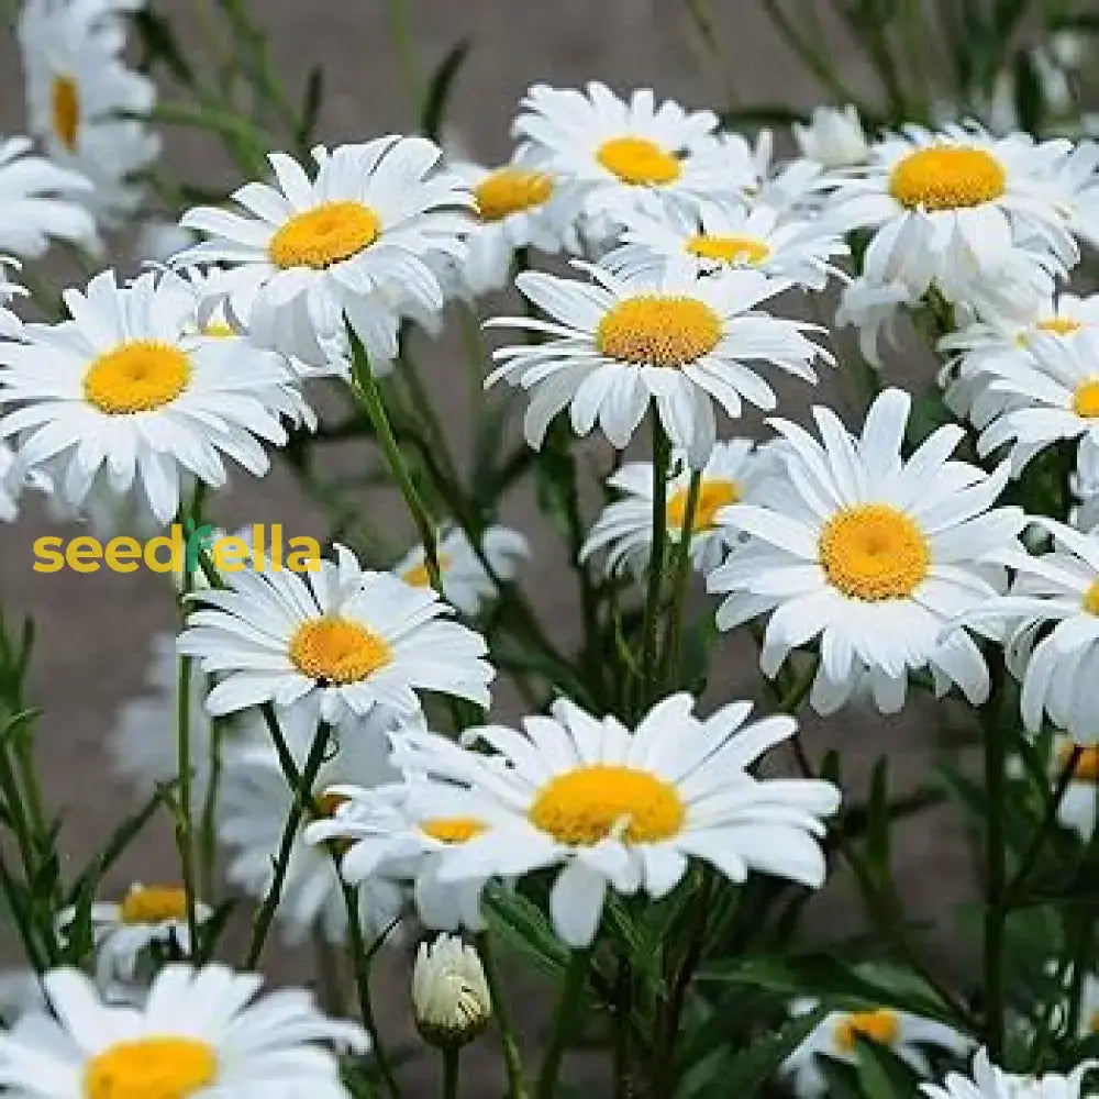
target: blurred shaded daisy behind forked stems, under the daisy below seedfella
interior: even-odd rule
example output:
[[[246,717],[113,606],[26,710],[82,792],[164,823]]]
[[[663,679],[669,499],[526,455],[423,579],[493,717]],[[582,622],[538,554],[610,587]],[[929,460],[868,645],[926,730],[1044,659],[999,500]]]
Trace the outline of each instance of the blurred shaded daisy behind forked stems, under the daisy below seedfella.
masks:
[[[345,798],[333,787],[363,787],[391,782],[397,771],[388,764],[386,733],[395,718],[380,708],[365,718],[351,718],[333,728],[328,755],[321,764],[312,795],[321,812],[334,813]],[[317,732],[307,707],[279,713],[279,728],[299,774],[306,765]],[[243,742],[226,746],[218,808],[218,839],[233,850],[225,877],[249,897],[267,896],[274,875],[273,861],[293,806],[270,734],[263,718],[249,711]],[[359,912],[367,933],[386,928],[401,911],[401,891],[382,878],[363,884]],[[347,910],[332,856],[323,847],[307,843],[304,828],[290,852],[282,893],[276,909],[282,936],[301,943],[311,930],[332,943],[347,933]]]

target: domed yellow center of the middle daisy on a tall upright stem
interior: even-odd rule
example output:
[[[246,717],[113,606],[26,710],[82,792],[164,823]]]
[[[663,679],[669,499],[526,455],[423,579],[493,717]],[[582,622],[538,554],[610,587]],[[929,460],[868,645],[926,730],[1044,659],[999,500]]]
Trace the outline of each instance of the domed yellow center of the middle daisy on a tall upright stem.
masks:
[[[637,366],[686,366],[721,340],[721,318],[697,298],[655,293],[624,298],[603,315],[596,346]]]

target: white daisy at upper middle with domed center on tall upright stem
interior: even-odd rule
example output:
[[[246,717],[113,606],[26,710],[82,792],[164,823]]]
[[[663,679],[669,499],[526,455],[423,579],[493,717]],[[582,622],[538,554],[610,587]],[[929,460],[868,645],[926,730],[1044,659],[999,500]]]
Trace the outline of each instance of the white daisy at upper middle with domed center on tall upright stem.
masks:
[[[486,382],[506,379],[530,390],[524,431],[535,449],[565,408],[578,435],[599,423],[623,449],[655,400],[673,445],[700,469],[717,439],[714,402],[731,417],[741,414],[745,400],[775,407],[770,386],[746,363],[769,363],[811,382],[818,356],[832,363],[806,336],[812,325],[757,309],[788,285],[759,271],[702,278],[684,262],[656,274],[620,276],[598,264],[574,266],[590,281],[539,271],[515,280],[550,320],[488,322],[548,336],[498,348],[492,358],[500,365]]]

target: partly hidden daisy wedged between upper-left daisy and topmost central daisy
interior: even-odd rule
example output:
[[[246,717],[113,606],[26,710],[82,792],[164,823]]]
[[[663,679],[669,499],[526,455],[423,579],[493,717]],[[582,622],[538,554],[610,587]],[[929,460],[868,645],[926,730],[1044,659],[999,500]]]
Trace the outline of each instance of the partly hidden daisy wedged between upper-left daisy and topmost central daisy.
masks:
[[[576,229],[582,202],[575,188],[546,170],[529,148],[499,168],[460,160],[451,170],[473,192],[476,225],[466,240],[468,252],[455,278],[463,290],[479,297],[511,279],[517,248],[576,252]]]

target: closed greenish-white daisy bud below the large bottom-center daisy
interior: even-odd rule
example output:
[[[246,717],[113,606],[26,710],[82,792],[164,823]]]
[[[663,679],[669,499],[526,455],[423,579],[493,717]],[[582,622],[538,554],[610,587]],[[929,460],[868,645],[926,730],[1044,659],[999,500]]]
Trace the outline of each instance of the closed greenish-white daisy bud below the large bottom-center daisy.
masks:
[[[456,935],[420,944],[412,970],[412,1010],[425,1042],[455,1048],[471,1042],[492,1017],[480,958]]]

